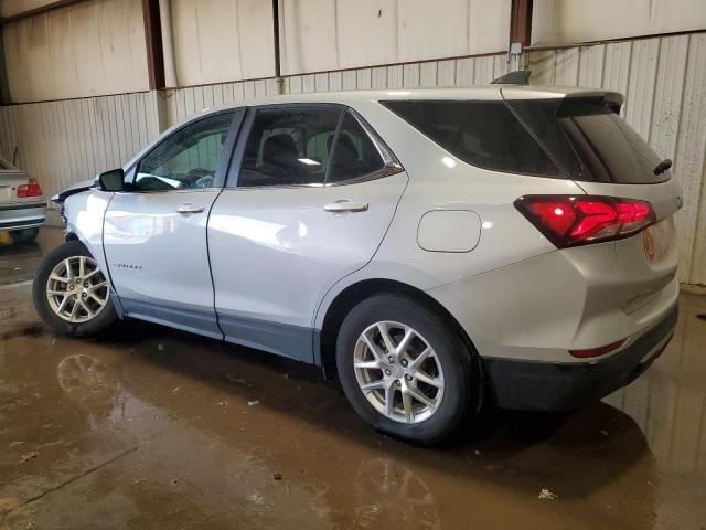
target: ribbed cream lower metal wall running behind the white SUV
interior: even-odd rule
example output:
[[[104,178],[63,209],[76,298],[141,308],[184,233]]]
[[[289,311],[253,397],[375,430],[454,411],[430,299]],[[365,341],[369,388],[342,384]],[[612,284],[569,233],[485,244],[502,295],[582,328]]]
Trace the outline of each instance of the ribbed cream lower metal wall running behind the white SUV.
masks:
[[[625,94],[625,119],[674,160],[684,188],[680,278],[706,284],[706,33],[628,40],[528,54],[534,83]],[[286,93],[470,86],[506,71],[504,54],[292,75]],[[171,125],[203,108],[276,93],[274,80],[223,83],[0,109],[0,147],[52,192],[128,160],[158,134],[158,104]],[[41,141],[35,141],[39,138]]]

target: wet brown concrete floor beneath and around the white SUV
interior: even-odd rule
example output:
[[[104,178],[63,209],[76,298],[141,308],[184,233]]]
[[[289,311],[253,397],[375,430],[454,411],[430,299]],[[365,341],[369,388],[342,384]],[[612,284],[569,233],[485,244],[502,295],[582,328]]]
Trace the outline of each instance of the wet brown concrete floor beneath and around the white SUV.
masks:
[[[140,322],[52,336],[30,280],[60,242],[0,246],[0,529],[706,528],[706,297],[605,402],[419,449],[313,368]]]

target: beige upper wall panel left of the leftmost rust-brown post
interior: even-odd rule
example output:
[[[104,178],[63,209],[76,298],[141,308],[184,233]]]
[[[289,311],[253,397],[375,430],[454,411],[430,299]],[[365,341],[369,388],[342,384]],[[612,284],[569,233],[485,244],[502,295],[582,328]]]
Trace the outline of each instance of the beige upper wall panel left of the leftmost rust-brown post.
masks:
[[[3,24],[9,100],[149,89],[140,0],[93,0]]]

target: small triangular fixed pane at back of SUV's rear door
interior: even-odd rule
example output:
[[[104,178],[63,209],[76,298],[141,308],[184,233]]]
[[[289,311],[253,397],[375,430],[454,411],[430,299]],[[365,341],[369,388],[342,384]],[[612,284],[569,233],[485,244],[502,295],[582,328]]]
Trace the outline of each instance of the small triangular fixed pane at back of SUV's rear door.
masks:
[[[383,169],[385,162],[361,124],[345,114],[333,152],[329,182],[357,179]]]

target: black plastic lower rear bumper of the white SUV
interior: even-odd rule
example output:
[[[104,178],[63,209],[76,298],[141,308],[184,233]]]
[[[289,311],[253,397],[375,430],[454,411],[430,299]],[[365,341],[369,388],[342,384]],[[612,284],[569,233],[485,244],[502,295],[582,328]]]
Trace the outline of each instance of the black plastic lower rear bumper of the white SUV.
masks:
[[[677,315],[675,305],[623,351],[591,363],[484,358],[492,398],[501,409],[523,411],[566,411],[598,401],[650,368],[672,339]]]

